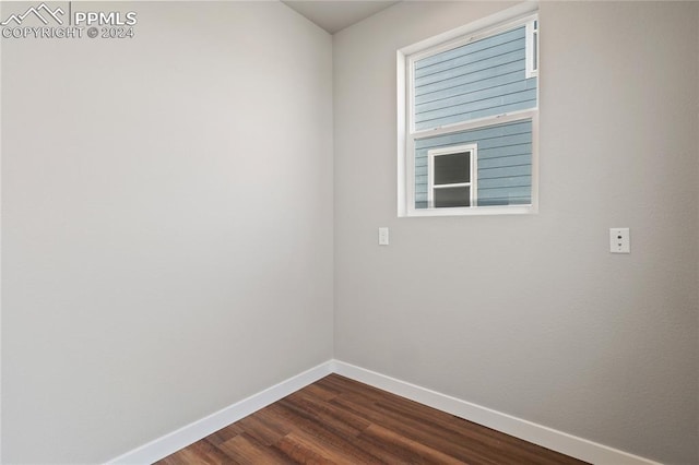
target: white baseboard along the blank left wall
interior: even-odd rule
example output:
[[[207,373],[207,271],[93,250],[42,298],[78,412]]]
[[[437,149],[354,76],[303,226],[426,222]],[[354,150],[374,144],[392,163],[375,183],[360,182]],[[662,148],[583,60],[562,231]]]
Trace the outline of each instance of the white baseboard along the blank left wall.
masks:
[[[332,360],[149,442],[108,464],[152,464],[333,372]]]

